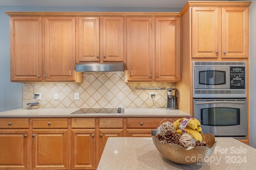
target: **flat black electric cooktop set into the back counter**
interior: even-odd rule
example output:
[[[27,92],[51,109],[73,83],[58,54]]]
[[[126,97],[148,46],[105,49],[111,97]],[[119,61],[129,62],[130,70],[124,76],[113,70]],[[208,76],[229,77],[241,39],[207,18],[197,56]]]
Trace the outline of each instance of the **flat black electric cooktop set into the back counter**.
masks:
[[[82,108],[71,114],[124,114],[124,108]]]

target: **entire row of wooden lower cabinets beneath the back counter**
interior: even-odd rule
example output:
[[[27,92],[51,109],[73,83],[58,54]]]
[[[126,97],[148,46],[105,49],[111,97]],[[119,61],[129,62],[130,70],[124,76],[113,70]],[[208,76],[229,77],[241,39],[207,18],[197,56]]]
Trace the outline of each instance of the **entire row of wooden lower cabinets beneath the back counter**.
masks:
[[[163,120],[0,119],[0,170],[94,170],[109,137],[151,137]]]

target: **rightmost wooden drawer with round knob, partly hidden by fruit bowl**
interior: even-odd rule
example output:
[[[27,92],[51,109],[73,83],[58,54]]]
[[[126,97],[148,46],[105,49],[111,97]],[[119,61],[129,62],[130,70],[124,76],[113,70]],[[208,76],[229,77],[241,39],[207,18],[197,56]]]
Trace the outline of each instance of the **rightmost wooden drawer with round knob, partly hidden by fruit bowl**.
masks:
[[[163,119],[127,119],[127,128],[157,128]]]

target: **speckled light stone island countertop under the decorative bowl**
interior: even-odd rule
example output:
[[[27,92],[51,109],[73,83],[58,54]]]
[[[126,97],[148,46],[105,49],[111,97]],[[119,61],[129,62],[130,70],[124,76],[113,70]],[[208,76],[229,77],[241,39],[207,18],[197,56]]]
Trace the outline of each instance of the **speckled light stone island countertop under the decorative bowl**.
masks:
[[[256,149],[234,138],[216,137],[214,151],[204,162],[182,165],[166,159],[152,138],[110,137],[97,170],[253,170]]]

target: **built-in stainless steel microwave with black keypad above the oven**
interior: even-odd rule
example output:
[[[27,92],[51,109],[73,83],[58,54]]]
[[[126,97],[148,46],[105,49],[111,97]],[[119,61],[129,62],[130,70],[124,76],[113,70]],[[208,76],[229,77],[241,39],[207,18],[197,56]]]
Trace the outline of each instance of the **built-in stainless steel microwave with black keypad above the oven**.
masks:
[[[194,98],[246,98],[246,62],[193,62]]]

